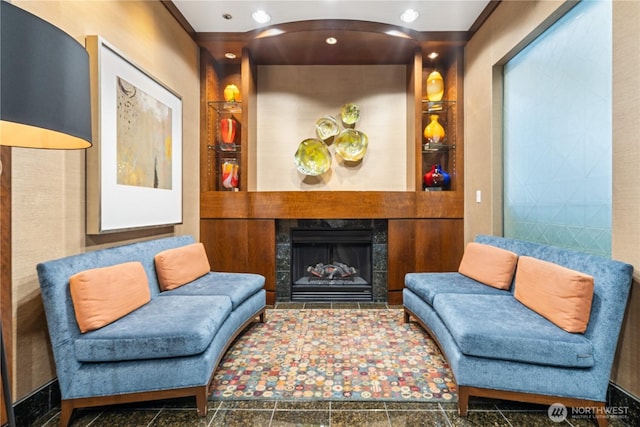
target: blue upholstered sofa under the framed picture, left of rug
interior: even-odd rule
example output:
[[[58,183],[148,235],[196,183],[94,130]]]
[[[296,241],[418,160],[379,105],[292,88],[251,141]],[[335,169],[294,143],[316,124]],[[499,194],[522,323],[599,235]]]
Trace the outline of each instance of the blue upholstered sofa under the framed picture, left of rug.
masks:
[[[195,396],[206,415],[213,374],[235,337],[264,321],[264,277],[209,272],[161,292],[154,256],[190,245],[190,236],[154,239],[38,264],[49,335],[62,395],[60,425],[75,408]],[[142,263],[151,300],[100,329],[81,333],[69,278],[129,261]]]

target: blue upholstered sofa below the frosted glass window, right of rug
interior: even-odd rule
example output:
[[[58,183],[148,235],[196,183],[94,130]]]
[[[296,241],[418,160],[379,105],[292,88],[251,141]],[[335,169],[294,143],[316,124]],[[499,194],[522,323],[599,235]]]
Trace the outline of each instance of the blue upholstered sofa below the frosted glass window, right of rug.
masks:
[[[632,266],[567,249],[478,236],[476,242],[549,261],[594,278],[584,334],[569,333],[530,310],[509,290],[458,272],[409,273],[405,322],[413,316],[445,355],[458,386],[458,410],[470,396],[588,407],[607,425],[605,401]]]

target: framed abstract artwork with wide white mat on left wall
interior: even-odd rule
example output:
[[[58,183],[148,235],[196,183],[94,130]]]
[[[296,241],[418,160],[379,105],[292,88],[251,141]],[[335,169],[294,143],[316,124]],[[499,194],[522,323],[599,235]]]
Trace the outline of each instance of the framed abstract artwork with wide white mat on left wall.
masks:
[[[182,98],[100,36],[87,36],[93,146],[87,234],[182,223]]]

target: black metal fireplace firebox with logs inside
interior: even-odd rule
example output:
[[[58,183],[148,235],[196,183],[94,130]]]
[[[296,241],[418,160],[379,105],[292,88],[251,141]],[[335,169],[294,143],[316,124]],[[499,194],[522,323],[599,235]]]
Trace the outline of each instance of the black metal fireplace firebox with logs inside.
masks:
[[[291,301],[372,301],[373,230],[291,229]]]

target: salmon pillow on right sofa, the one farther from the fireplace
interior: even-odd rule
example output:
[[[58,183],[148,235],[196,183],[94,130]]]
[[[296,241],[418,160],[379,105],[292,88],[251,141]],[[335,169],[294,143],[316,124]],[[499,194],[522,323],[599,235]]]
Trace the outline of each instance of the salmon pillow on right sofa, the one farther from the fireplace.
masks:
[[[587,330],[593,300],[593,277],[579,271],[521,256],[515,298],[567,332]]]

